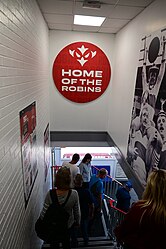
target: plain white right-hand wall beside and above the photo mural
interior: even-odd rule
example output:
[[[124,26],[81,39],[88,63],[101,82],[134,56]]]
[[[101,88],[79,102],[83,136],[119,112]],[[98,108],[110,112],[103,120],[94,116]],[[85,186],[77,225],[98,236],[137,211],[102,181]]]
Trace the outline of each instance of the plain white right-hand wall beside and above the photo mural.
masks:
[[[115,38],[108,133],[124,156],[127,150],[141,39],[166,27],[165,11],[166,1],[154,1],[118,32]]]

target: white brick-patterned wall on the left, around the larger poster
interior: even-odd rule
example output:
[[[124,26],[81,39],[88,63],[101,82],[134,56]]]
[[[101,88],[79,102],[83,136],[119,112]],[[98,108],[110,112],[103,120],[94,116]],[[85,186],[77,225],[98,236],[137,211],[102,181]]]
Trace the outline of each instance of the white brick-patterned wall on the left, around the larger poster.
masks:
[[[48,29],[35,0],[0,0],[0,248],[37,249],[49,123]],[[19,112],[36,101],[39,172],[25,209]]]

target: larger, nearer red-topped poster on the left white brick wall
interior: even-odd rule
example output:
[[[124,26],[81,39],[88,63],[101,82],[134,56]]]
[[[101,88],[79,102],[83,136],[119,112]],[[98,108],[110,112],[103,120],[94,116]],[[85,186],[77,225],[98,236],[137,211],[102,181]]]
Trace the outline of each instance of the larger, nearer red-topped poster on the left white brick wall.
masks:
[[[20,132],[26,207],[38,173],[36,157],[36,102],[20,111]]]

